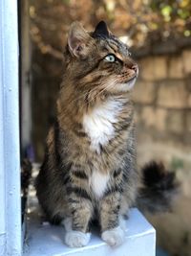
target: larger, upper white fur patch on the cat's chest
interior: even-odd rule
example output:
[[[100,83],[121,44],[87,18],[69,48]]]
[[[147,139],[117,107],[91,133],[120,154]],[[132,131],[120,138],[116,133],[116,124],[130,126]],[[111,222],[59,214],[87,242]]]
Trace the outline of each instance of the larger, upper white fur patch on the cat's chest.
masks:
[[[83,127],[91,138],[91,148],[99,152],[100,145],[106,145],[114,137],[117,123],[117,114],[121,104],[108,100],[102,105],[97,105],[90,114],[83,117]]]

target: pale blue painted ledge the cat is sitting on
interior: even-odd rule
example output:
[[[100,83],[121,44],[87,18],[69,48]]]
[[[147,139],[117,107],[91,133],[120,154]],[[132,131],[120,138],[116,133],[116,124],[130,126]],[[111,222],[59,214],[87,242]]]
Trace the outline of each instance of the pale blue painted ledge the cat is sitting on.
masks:
[[[28,234],[24,256],[155,256],[156,232],[137,209],[132,209],[126,221],[125,243],[112,248],[95,233],[90,244],[81,248],[69,248],[64,244],[64,227],[41,225],[33,212],[29,215]]]

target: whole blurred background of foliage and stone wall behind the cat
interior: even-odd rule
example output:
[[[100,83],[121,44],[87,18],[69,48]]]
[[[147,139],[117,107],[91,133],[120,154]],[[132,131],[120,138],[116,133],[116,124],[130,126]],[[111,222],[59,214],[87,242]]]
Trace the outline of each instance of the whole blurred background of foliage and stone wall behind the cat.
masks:
[[[191,1],[21,1],[23,154],[41,162],[62,80],[62,51],[74,20],[92,31],[105,20],[131,47],[139,78],[134,101],[138,167],[161,160],[177,173],[173,213],[147,216],[159,255],[191,256]],[[29,104],[30,103],[30,104]]]

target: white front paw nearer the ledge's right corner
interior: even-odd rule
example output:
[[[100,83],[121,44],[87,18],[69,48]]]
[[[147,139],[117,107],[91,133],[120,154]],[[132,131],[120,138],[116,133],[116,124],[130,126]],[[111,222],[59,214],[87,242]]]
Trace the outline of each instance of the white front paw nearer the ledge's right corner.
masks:
[[[124,242],[125,233],[120,226],[106,230],[101,234],[104,242],[111,246],[118,246]]]

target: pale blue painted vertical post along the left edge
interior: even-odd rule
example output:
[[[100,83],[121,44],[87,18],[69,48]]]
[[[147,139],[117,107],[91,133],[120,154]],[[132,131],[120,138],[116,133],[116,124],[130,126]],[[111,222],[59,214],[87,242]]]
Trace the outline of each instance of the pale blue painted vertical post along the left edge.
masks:
[[[20,256],[17,1],[0,1],[0,255]]]

